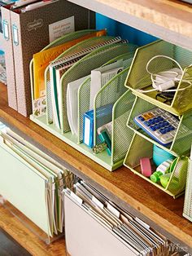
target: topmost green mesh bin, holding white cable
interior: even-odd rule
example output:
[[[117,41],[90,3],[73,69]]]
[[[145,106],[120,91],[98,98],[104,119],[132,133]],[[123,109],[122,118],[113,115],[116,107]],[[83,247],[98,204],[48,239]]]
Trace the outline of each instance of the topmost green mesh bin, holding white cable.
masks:
[[[177,85],[177,92],[175,93],[171,104],[165,104],[163,100],[155,99],[155,96],[157,95],[156,91],[148,92],[146,94],[138,91],[138,89],[152,89],[151,75],[146,71],[146,64],[155,55],[167,55],[173,60],[177,60],[177,62],[181,64],[181,67],[185,69],[184,76],[181,77],[181,81]],[[159,106],[159,108],[164,108],[179,116],[192,108],[192,86],[190,86],[190,82],[192,82],[191,64],[191,51],[162,40],[152,42],[149,45],[137,49],[125,86],[133,90],[133,93],[139,97],[151,101],[156,106]],[[175,67],[177,67],[177,64],[173,61],[165,58],[158,58],[151,63],[151,72],[159,73]],[[181,90],[181,88],[186,87],[188,88]]]

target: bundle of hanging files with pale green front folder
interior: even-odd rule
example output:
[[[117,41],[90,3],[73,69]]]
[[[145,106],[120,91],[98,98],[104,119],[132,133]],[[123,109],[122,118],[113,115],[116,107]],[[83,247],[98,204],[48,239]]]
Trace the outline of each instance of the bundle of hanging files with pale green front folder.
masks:
[[[59,195],[73,175],[12,130],[0,135],[0,194],[50,237],[63,232]]]

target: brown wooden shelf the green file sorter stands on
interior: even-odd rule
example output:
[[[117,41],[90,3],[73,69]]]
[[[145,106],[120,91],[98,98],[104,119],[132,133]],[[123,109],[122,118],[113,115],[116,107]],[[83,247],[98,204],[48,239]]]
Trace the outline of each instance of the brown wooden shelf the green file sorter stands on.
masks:
[[[192,223],[182,217],[184,196],[174,200],[171,196],[155,188],[125,167],[114,172],[105,170],[81,152],[63,143],[54,135],[37,126],[33,121],[16,113],[7,105],[7,87],[0,85],[0,119],[27,136],[30,142],[55,157],[66,162],[72,170],[78,170],[104,189],[131,205],[152,222],[178,240],[192,248]]]

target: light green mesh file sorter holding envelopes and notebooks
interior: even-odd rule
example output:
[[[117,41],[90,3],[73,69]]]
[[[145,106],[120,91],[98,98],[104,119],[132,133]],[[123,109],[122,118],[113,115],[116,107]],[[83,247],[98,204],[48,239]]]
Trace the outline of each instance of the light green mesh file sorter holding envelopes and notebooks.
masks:
[[[88,41],[88,40],[87,40]],[[79,44],[78,50],[81,50],[81,45]],[[68,54],[72,54],[75,50],[75,47],[68,51]],[[132,107],[135,96],[131,93],[130,90],[126,90],[124,87],[125,78],[129,70],[129,66],[133,60],[133,54],[137,46],[128,43],[116,43],[112,45],[103,46],[99,49],[92,51],[90,54],[85,55],[81,60],[77,61],[76,64],[69,68],[66,73],[63,74],[61,78],[61,95],[63,109],[61,113],[62,117],[62,126],[59,130],[53,121],[51,121],[51,114],[48,112],[45,116],[36,117],[32,115],[30,118],[38,125],[42,126],[44,129],[50,131],[53,135],[59,137],[64,142],[70,144],[73,148],[76,148],[80,152],[84,153],[85,156],[90,157],[98,164],[107,168],[107,170],[116,170],[116,168],[122,166],[124,161],[124,156],[129,147],[130,140],[133,137],[133,130],[129,130],[126,127],[126,121],[129,116],[130,109]],[[83,82],[78,91],[78,135],[72,135],[72,132],[68,126],[68,117],[67,117],[67,106],[66,106],[66,89],[68,82],[74,81],[80,77],[85,77],[89,75],[91,70],[98,68],[105,64],[110,64],[116,60],[123,59],[124,71],[117,74],[116,77],[113,77],[111,81],[107,82],[105,86],[98,91],[96,98],[103,97],[104,93],[108,91],[111,92],[113,110],[112,110],[112,153],[111,156],[107,155],[107,151],[99,152],[94,154],[91,148],[88,148],[82,142],[82,115],[85,111],[89,110],[89,86],[90,78],[88,77],[85,82]],[[46,70],[46,75],[49,78],[49,72]],[[49,79],[47,79],[49,80]],[[32,88],[33,89],[33,88]],[[114,95],[114,90],[119,90],[118,97]],[[83,93],[82,93],[83,92]],[[49,104],[49,95],[47,96],[47,105]],[[120,98],[119,98],[120,97]],[[109,99],[110,100],[110,99]],[[103,104],[107,104],[107,100],[103,101]],[[99,107],[98,100],[94,104],[94,111],[97,111]],[[51,111],[50,111],[51,113]],[[49,115],[49,117],[48,117]],[[52,119],[53,120],[53,119]],[[95,122],[94,129],[97,129],[97,120]],[[122,145],[122,138],[124,145]],[[95,140],[96,143],[96,140]]]

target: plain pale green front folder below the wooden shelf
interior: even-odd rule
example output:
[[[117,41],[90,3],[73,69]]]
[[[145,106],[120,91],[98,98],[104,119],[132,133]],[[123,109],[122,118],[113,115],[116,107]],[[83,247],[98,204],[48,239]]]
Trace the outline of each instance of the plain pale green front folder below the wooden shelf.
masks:
[[[0,194],[51,236],[46,205],[46,179],[0,141]]]

